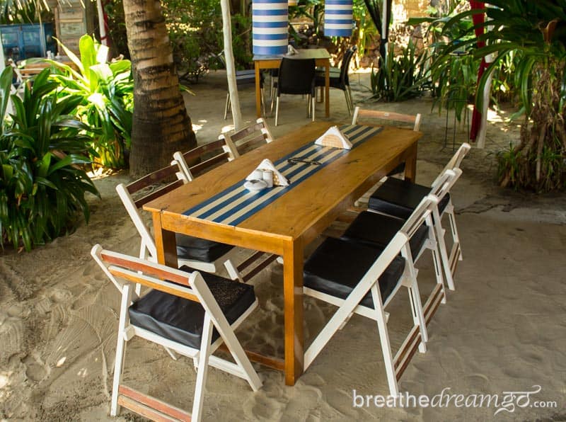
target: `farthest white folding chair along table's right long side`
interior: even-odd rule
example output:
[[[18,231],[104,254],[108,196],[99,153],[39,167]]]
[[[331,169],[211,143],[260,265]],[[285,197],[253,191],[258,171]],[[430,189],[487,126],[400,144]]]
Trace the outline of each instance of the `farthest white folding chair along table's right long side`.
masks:
[[[393,215],[401,219],[406,219],[415,209],[419,201],[428,195],[430,188],[434,188],[439,184],[442,174],[447,169],[456,171],[460,169],[463,158],[468,154],[470,144],[464,142],[458,148],[456,154],[452,156],[444,170],[432,182],[431,186],[422,186],[417,183],[403,181],[397,178],[387,178],[377,190],[369,197],[368,207],[371,210],[382,212],[383,214]],[[441,217],[444,213],[449,215],[450,228],[452,233],[452,249],[448,254],[446,242],[444,241],[444,229],[441,224]],[[462,260],[460,248],[460,238],[458,229],[456,228],[456,219],[454,217],[454,205],[452,205],[451,196],[446,193],[444,198],[439,202],[437,210],[433,215],[434,227],[437,230],[437,240],[440,246],[442,265],[446,276],[446,282],[450,290],[454,290],[454,273],[456,272],[456,264]]]

